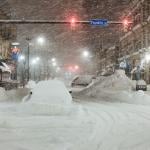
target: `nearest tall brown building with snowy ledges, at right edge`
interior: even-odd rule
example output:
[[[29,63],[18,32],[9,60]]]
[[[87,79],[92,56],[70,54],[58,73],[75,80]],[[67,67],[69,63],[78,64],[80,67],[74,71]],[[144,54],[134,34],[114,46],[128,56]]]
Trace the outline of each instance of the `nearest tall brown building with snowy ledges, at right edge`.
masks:
[[[119,41],[119,61],[126,59],[131,67],[140,66],[146,53],[150,53],[150,1],[134,0],[125,18],[133,21],[132,29]],[[150,65],[145,65],[143,78],[150,83]]]

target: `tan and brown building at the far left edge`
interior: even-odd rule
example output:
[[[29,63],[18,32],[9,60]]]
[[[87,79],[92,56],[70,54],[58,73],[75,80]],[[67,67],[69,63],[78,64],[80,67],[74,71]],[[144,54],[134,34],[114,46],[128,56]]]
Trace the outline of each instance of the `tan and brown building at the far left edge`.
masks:
[[[7,5],[8,7],[8,5]],[[11,19],[8,11],[0,6],[0,19]],[[9,8],[7,8],[9,10]],[[16,79],[16,62],[12,60],[12,42],[16,41],[16,26],[13,24],[0,24],[0,62],[5,62],[11,69],[11,76]],[[0,80],[4,80],[5,71],[0,69]],[[3,78],[2,78],[3,77]],[[11,78],[11,77],[9,77]],[[8,79],[9,79],[8,78]]]

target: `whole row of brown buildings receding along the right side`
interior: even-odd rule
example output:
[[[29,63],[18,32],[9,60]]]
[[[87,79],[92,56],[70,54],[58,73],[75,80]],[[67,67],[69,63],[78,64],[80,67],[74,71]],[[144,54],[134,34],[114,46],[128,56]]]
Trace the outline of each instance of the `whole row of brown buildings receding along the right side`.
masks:
[[[121,33],[116,46],[100,50],[98,70],[119,67],[124,62],[131,76],[131,70],[141,66],[144,70],[142,78],[150,83],[150,0],[133,0],[129,8],[124,18],[133,21],[133,24]],[[149,55],[149,62],[145,60],[143,63],[146,55]]]

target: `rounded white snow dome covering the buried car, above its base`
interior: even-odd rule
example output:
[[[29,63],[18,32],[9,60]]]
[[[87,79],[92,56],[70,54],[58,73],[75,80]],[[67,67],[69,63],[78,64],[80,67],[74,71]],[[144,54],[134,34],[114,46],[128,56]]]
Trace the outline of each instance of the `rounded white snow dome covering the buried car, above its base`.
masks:
[[[72,97],[63,82],[48,80],[39,82],[32,90],[32,103],[70,104]]]

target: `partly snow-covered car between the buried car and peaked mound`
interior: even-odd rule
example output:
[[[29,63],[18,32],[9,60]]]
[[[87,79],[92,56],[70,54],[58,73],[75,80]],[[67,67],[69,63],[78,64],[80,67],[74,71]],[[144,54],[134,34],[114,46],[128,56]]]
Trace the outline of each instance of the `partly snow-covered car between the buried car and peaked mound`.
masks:
[[[94,75],[80,75],[76,76],[72,82],[71,86],[88,86],[90,83],[92,83],[92,80],[95,79],[96,77]]]

